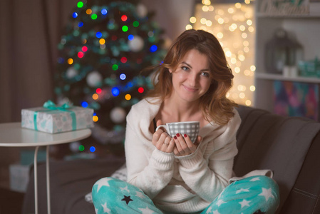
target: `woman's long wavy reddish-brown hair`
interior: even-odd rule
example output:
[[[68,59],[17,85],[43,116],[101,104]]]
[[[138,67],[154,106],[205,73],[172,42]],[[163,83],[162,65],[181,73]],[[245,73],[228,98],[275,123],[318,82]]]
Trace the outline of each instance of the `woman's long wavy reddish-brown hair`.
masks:
[[[232,70],[227,63],[220,42],[212,34],[202,30],[187,30],[175,39],[163,63],[156,66],[153,78],[154,88],[148,91],[146,98],[160,98],[164,101],[172,93],[171,68],[175,71],[182,58],[191,49],[205,54],[212,73],[212,83],[209,90],[200,98],[200,109],[207,121],[226,124],[234,116],[236,103],[230,101],[226,94],[232,87]],[[154,69],[155,67],[153,67]]]

